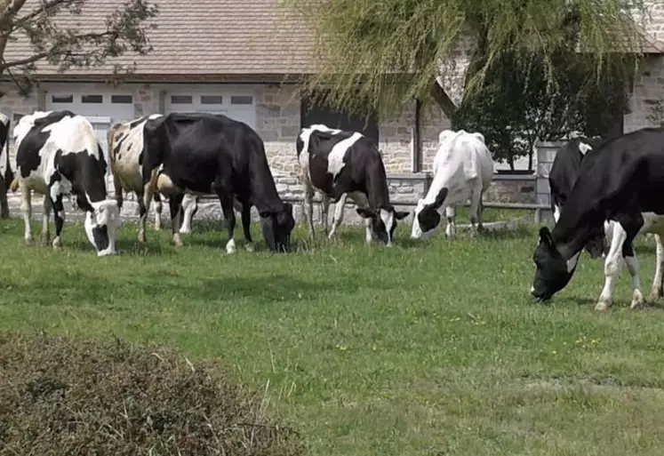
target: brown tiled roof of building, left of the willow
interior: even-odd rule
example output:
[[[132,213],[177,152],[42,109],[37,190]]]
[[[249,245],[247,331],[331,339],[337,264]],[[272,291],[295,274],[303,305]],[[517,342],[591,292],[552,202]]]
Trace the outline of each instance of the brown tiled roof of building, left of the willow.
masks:
[[[28,0],[22,13],[40,0]],[[100,31],[104,20],[123,0],[88,0],[80,15],[60,12],[67,28]],[[153,51],[146,56],[125,54],[115,63],[136,62],[135,75],[284,75],[307,72],[313,38],[292,12],[276,0],[152,0],[159,13],[148,23]],[[10,43],[7,61],[31,55],[24,37]],[[108,75],[112,65],[72,68],[72,75]],[[55,75],[57,68],[40,61],[37,74]]]

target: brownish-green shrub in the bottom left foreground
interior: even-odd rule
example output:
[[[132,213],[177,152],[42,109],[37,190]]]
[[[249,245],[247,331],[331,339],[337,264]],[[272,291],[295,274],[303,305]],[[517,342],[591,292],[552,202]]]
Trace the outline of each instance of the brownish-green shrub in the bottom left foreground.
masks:
[[[0,455],[302,452],[220,368],[121,340],[0,332]]]

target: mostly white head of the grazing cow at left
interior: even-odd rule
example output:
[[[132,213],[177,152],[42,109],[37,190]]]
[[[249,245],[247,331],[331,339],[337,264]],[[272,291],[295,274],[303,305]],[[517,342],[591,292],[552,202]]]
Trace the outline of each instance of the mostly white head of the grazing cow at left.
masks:
[[[85,212],[85,234],[97,256],[115,255],[116,229],[122,224],[116,200],[92,203],[92,208],[92,212]]]

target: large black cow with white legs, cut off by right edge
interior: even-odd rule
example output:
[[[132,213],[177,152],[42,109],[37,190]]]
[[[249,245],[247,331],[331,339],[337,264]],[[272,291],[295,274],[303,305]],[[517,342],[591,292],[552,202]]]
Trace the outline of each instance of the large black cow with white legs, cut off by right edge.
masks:
[[[579,177],[553,230],[540,228],[532,260],[536,271],[531,292],[549,300],[572,279],[584,245],[614,221],[604,261],[604,289],[596,310],[612,304],[622,259],[632,277],[631,308],[644,304],[632,242],[639,233],[664,234],[664,128],[644,128],[605,141],[581,162]],[[590,156],[588,156],[590,158]],[[657,248],[657,272],[651,299],[662,296],[664,250]]]

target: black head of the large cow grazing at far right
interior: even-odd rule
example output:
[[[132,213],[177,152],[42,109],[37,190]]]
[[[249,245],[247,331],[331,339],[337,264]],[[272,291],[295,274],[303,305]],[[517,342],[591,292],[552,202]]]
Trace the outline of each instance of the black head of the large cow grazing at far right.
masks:
[[[537,300],[549,300],[561,291],[572,278],[568,261],[556,248],[551,232],[547,227],[540,228],[540,243],[532,254],[535,263],[535,278],[532,281],[531,293]]]

